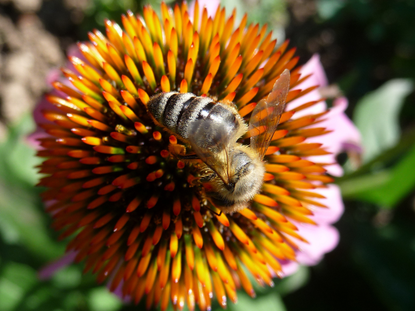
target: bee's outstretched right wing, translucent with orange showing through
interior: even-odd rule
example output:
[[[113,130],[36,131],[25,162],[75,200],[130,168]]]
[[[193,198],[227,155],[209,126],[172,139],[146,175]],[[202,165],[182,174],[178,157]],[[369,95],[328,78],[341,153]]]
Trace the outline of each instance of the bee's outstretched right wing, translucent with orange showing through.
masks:
[[[284,111],[289,87],[290,71],[286,69],[275,81],[268,97],[260,100],[252,111],[251,119],[249,120],[251,148],[259,154],[261,159],[269,147],[269,143]]]

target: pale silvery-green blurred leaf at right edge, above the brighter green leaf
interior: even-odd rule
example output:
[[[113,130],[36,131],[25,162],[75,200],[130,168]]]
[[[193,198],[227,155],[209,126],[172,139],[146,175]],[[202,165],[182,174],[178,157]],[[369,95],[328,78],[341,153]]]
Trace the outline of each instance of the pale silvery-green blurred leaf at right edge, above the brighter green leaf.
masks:
[[[362,135],[364,162],[398,142],[398,115],[405,97],[412,90],[411,80],[393,79],[359,100],[353,121]]]

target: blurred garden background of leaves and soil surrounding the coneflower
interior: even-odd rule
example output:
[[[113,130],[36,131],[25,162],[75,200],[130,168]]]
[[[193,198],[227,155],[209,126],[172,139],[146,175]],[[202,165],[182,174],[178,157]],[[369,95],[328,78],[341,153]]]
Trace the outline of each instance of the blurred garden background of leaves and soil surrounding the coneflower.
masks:
[[[171,1],[167,1],[171,2]],[[123,306],[81,265],[39,281],[63,254],[35,188],[39,159],[27,142],[32,109],[65,51],[104,18],[120,22],[140,0],[0,0],[0,311],[116,311]],[[227,0],[238,16],[289,38],[300,63],[319,53],[330,86],[344,94],[363,154],[340,154],[346,211],[337,248],[315,267],[239,294],[235,311],[415,310],[415,1]],[[359,167],[356,168],[356,164]],[[220,309],[213,306],[213,309]]]

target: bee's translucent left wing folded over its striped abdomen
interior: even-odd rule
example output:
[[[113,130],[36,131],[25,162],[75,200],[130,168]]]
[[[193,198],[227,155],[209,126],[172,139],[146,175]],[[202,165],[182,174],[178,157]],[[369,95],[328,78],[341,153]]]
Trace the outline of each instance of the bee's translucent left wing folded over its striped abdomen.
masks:
[[[188,131],[188,140],[193,151],[225,184],[228,184],[231,179],[229,152],[234,133],[223,122],[211,119],[192,121]]]

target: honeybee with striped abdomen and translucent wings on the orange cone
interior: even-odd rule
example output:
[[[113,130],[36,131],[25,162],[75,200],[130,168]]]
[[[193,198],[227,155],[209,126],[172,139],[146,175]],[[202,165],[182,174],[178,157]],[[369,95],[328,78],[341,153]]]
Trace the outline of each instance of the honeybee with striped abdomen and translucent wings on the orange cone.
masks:
[[[147,108],[156,125],[190,145],[194,154],[180,159],[200,159],[201,181],[211,190],[211,203],[224,213],[246,208],[261,191],[264,154],[283,113],[290,86],[288,69],[281,73],[269,95],[252,111],[249,125],[233,104],[216,102],[193,93],[159,93]],[[238,142],[249,131],[250,146]]]

